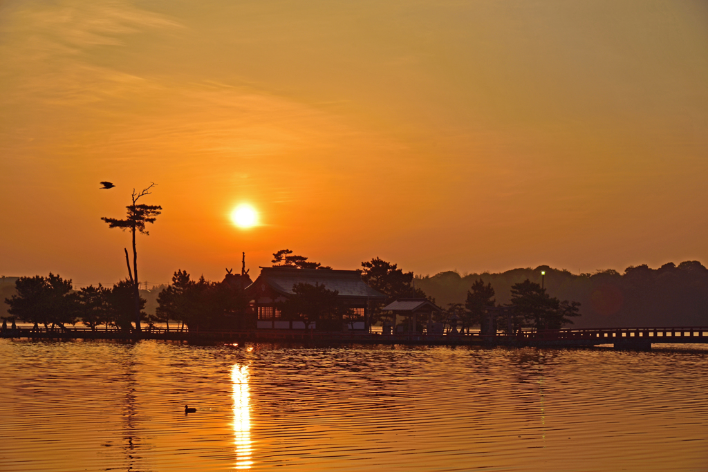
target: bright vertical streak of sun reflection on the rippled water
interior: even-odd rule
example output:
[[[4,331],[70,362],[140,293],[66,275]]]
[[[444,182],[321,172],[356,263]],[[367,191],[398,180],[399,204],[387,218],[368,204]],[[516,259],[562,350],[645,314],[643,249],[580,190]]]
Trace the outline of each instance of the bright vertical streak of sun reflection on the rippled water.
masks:
[[[251,406],[249,405],[249,367],[234,364],[231,369],[234,388],[234,446],[236,468],[251,468]]]

